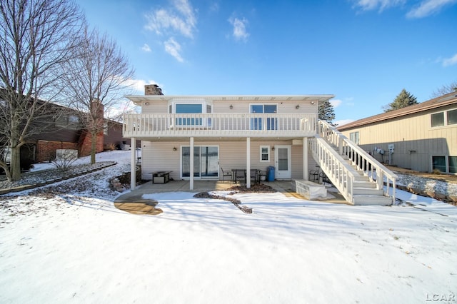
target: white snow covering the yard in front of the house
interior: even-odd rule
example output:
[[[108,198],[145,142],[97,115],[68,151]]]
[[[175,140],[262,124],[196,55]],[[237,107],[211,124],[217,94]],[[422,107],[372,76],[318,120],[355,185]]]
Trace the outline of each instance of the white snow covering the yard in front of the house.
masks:
[[[415,206],[233,195],[245,214],[180,192],[145,195],[164,212],[138,216],[105,190],[129,155],[100,153],[119,162],[104,176],[0,196],[0,303],[457,301],[455,206],[404,191]]]

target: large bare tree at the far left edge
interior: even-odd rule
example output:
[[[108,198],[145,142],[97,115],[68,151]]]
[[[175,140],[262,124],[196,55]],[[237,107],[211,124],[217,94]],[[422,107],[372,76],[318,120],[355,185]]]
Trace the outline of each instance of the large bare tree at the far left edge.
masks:
[[[71,0],[0,1],[0,149],[11,151],[11,163],[1,159],[0,167],[10,181],[21,178],[20,148],[38,131],[34,120],[49,115],[39,98],[56,96],[81,19]]]

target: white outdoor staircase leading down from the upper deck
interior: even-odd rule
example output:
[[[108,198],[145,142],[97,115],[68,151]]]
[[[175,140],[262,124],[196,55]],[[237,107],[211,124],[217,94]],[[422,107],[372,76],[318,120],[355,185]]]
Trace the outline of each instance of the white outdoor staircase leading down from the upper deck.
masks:
[[[321,170],[353,205],[391,205],[396,175],[325,121],[309,149]],[[386,184],[386,186],[384,186]]]

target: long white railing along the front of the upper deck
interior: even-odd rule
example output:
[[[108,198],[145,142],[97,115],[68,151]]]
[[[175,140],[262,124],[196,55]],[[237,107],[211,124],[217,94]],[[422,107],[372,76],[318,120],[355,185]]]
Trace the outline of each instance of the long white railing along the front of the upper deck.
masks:
[[[126,138],[154,136],[314,136],[315,113],[126,114]]]

